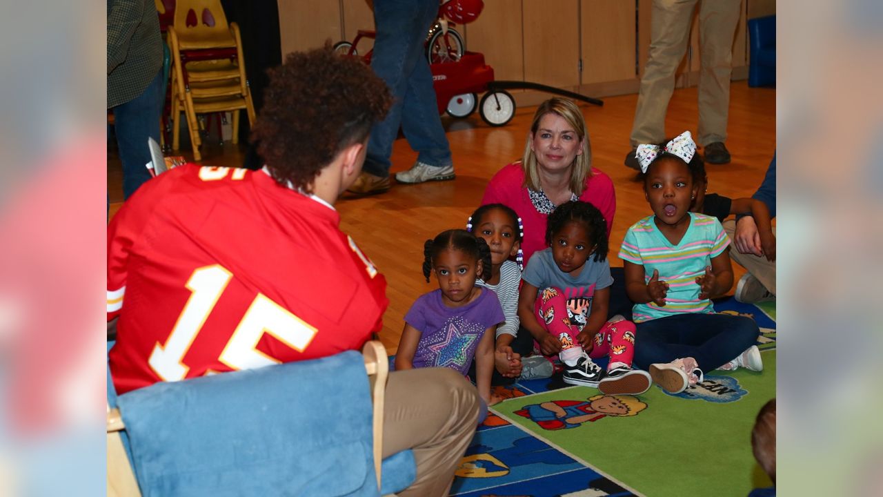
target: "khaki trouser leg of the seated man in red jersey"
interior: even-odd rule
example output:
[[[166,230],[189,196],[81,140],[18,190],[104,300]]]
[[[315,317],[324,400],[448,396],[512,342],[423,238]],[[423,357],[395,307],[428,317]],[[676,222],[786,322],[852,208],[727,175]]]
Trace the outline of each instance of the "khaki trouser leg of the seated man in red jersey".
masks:
[[[423,368],[390,372],[385,399],[383,457],[411,448],[417,461],[417,479],[398,495],[448,495],[478,424],[478,390],[457,371]]]

